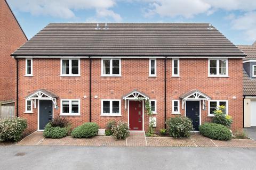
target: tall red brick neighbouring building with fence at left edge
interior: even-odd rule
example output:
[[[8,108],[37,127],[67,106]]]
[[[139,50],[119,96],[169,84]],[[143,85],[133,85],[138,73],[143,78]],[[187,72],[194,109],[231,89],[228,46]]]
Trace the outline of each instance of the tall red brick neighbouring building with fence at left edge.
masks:
[[[10,55],[28,39],[6,1],[0,1],[0,118],[14,116],[16,61]]]

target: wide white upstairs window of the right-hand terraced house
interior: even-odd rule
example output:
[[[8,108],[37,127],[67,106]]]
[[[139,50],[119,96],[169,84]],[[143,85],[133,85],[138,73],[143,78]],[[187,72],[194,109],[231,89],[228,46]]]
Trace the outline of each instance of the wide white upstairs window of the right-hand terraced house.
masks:
[[[226,77],[228,75],[228,60],[209,60],[209,77]]]

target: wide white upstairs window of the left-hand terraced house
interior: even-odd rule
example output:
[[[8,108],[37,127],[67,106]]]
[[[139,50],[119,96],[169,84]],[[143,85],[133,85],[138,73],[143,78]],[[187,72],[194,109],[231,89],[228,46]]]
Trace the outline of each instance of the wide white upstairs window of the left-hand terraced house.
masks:
[[[79,59],[61,59],[62,76],[79,76],[80,60]]]

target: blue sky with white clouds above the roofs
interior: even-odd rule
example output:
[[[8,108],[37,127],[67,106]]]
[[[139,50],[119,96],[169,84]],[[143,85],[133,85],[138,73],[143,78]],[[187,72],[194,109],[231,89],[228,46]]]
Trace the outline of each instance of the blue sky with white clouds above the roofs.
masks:
[[[211,23],[235,45],[256,40],[255,0],[7,0],[30,39],[49,23]]]

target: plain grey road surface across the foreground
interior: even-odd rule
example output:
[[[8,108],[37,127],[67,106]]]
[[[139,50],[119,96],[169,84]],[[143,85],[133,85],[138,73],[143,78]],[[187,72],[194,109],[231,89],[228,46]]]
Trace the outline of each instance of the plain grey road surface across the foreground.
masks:
[[[0,169],[255,169],[256,148],[0,147]]]

